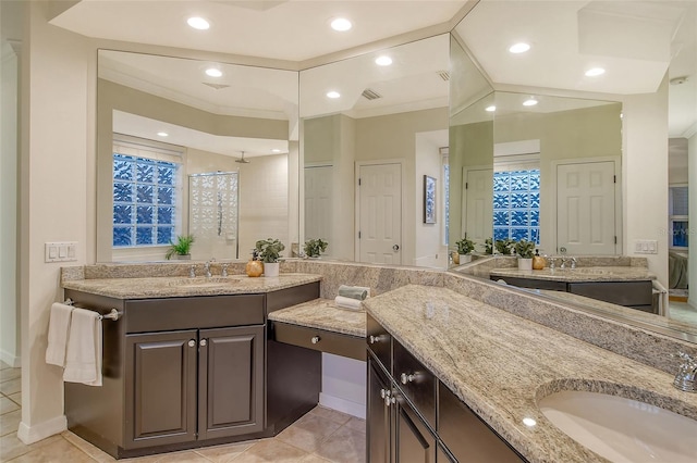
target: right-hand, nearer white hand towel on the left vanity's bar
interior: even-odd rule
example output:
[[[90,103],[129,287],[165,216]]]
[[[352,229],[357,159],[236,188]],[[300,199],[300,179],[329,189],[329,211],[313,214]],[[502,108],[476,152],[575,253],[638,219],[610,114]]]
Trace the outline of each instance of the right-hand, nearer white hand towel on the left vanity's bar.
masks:
[[[73,309],[63,380],[101,386],[101,320],[95,311]]]

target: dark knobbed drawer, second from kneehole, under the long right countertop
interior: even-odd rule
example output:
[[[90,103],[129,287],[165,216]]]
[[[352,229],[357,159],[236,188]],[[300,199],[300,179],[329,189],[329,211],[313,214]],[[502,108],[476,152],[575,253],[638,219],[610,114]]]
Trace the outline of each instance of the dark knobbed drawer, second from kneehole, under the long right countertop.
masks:
[[[400,342],[393,340],[393,375],[404,395],[436,429],[436,377]]]

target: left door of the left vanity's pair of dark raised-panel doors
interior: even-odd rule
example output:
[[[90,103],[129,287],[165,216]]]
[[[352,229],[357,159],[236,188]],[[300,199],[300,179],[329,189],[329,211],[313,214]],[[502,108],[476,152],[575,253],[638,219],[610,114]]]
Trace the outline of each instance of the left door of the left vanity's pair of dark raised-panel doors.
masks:
[[[196,330],[126,336],[126,448],[196,439]]]

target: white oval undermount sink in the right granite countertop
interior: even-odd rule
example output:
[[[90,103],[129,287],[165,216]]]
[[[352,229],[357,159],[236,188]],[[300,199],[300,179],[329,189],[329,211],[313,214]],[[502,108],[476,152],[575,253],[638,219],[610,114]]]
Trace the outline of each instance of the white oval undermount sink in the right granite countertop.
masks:
[[[612,462],[697,462],[697,421],[658,406],[586,391],[538,402],[564,434]]]

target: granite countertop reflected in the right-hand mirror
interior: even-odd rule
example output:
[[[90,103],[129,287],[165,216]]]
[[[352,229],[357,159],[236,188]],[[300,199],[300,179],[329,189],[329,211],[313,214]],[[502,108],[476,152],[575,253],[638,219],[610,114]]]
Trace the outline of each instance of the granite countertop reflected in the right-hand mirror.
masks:
[[[656,275],[646,267],[635,266],[598,266],[576,268],[542,268],[522,271],[517,268],[492,268],[491,276],[545,279],[552,281],[589,283],[589,281],[643,281],[656,279]]]

